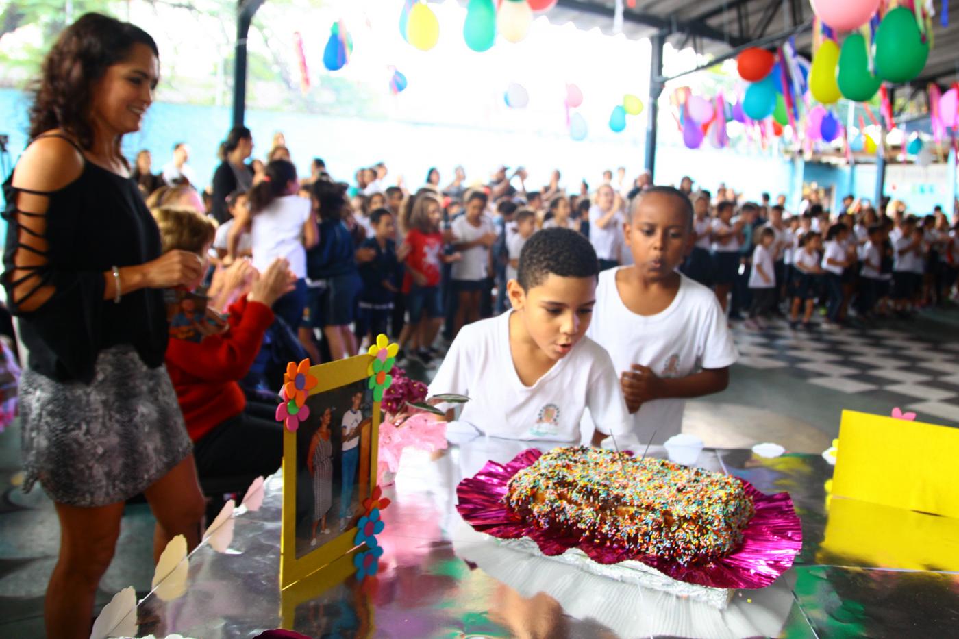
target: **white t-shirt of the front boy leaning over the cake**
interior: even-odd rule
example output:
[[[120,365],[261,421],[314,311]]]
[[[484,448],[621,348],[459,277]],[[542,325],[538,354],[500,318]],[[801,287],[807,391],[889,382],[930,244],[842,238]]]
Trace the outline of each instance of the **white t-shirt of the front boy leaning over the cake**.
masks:
[[[584,337],[527,387],[516,373],[509,347],[512,313],[463,326],[436,371],[430,394],[469,396],[459,420],[490,437],[578,442],[586,409],[599,432],[626,436],[629,414],[606,351]],[[441,410],[449,408],[452,405]]]

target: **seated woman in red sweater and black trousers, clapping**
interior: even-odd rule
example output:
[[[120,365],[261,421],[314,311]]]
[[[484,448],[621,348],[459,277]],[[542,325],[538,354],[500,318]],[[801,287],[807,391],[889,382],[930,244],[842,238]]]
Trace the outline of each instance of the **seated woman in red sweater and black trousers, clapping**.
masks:
[[[214,223],[192,209],[162,207],[152,213],[163,250],[195,252],[206,272]],[[247,405],[237,382],[273,321],[270,307],[292,290],[294,281],[287,261],[277,259],[255,276],[249,293],[229,307],[225,325],[206,324],[203,332],[210,334],[201,341],[171,339],[167,346],[167,370],[194,441],[201,484],[217,480],[222,492],[242,491],[256,477],[280,467],[283,431],[273,416],[276,407]]]

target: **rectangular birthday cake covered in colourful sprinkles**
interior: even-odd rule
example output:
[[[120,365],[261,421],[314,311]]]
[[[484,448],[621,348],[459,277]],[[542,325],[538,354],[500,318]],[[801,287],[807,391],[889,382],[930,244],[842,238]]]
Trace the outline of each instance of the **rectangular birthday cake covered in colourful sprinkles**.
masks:
[[[755,511],[735,477],[586,446],[517,472],[504,501],[537,528],[683,564],[734,551]]]

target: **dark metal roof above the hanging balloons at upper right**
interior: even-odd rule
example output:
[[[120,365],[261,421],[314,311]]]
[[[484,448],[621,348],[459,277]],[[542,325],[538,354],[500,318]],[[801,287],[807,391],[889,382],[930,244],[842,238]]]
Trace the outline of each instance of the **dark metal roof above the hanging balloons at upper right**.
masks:
[[[662,33],[677,49],[722,56],[762,37],[775,36],[810,25],[796,36],[796,49],[809,57],[812,48],[812,8],[808,0],[623,0],[622,33],[643,38]],[[546,13],[556,23],[573,22],[581,29],[613,33],[615,0],[558,0]],[[936,3],[937,8],[939,3]],[[924,86],[959,80],[959,20],[943,27],[936,16],[934,46],[923,74],[911,84]]]

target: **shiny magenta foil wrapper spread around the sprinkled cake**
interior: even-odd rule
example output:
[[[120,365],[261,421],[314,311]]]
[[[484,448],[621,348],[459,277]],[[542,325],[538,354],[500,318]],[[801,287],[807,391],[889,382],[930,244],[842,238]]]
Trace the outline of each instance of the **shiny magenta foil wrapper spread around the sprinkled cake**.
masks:
[[[529,537],[546,556],[562,555],[578,548],[598,563],[642,561],[667,577],[713,588],[764,588],[789,570],[803,547],[803,529],[789,493],[766,495],[742,481],[753,499],[756,514],[743,531],[742,543],[721,559],[682,564],[675,559],[641,555],[621,546],[600,546],[541,529],[524,521],[506,507],[504,498],[509,480],[532,465],[543,453],[535,448],[523,451],[505,465],[487,461],[474,477],[456,486],[456,510],[475,530],[501,539]]]

